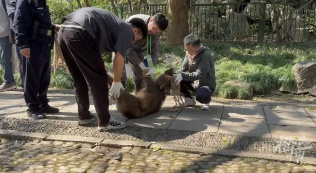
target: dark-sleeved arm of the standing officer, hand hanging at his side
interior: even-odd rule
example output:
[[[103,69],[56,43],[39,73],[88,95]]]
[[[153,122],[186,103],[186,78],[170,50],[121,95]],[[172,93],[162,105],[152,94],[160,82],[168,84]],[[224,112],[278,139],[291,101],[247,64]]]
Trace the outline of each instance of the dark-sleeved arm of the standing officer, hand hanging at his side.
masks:
[[[23,49],[30,48],[28,32],[33,25],[30,5],[31,4],[28,2],[28,0],[18,0],[16,13],[13,20],[13,31],[16,35],[16,44],[21,51]]]

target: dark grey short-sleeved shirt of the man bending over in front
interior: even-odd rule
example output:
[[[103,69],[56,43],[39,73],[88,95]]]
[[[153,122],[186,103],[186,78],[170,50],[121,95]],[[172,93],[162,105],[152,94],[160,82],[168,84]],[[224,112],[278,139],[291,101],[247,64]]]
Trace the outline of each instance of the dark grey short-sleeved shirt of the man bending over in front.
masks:
[[[120,52],[123,57],[134,40],[134,33],[128,23],[113,13],[95,7],[81,8],[64,17],[76,22],[92,36],[101,53]]]

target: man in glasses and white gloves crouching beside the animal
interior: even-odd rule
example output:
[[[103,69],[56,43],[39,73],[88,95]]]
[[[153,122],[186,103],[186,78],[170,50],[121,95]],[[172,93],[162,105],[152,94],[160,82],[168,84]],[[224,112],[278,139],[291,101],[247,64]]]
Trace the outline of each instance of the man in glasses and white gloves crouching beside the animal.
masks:
[[[198,37],[188,35],[183,42],[186,55],[182,68],[178,70],[177,74],[174,74],[174,77],[176,77],[176,84],[180,84],[184,106],[195,105],[189,92],[193,91],[196,100],[202,104],[201,110],[209,110],[211,96],[216,87],[214,58],[211,56],[210,49],[204,47]]]

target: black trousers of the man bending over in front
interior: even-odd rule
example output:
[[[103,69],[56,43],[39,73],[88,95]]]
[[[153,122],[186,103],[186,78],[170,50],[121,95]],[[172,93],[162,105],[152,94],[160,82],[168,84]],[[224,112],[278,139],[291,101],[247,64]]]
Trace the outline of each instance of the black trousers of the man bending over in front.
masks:
[[[80,120],[88,119],[91,91],[99,126],[105,126],[110,114],[108,111],[107,74],[98,45],[86,31],[61,28],[58,42],[66,65],[73,78],[73,88],[78,104]]]

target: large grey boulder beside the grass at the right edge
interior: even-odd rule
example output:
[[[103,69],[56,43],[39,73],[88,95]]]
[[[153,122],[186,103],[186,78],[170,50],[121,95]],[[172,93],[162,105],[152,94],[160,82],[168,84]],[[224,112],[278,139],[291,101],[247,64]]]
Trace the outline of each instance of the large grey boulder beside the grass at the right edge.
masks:
[[[316,96],[316,61],[303,61],[292,68],[298,87],[298,94]]]

